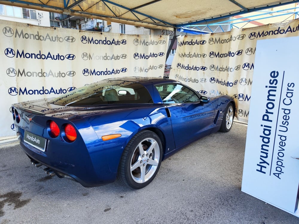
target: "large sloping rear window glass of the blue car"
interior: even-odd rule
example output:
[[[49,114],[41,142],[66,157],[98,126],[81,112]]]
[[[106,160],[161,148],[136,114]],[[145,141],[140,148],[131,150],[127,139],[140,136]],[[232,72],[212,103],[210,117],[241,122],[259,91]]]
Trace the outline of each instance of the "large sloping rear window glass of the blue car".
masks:
[[[60,106],[153,103],[148,90],[136,82],[102,80],[72,90],[49,103]]]

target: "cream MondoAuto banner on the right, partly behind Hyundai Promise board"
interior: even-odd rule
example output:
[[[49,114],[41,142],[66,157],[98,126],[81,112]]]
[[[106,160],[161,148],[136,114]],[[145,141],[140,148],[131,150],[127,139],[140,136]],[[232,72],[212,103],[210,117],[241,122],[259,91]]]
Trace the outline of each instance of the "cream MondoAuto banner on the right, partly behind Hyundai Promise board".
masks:
[[[238,120],[247,122],[257,40],[287,36],[299,36],[298,20],[226,33],[180,36],[170,79],[202,95],[233,96]]]

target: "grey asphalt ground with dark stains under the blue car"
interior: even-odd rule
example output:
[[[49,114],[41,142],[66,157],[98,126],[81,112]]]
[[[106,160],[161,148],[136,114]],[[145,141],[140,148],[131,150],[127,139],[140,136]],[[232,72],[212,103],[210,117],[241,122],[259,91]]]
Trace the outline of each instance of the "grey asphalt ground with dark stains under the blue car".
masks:
[[[214,133],[162,162],[147,187],[96,188],[35,168],[17,143],[0,146],[0,224],[299,223],[241,191],[246,125]]]

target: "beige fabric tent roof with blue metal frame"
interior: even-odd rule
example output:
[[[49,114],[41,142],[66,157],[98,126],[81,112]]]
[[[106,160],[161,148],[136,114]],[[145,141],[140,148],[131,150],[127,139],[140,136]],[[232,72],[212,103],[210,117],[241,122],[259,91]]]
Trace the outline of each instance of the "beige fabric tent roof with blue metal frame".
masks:
[[[0,0],[14,5],[135,26],[173,29],[299,0]]]

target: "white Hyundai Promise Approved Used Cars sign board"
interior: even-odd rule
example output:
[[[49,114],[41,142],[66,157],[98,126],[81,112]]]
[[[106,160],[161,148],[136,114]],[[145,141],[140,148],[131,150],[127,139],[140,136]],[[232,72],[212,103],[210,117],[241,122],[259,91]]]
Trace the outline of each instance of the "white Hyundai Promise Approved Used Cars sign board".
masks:
[[[258,40],[242,191],[299,217],[299,37]]]

